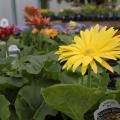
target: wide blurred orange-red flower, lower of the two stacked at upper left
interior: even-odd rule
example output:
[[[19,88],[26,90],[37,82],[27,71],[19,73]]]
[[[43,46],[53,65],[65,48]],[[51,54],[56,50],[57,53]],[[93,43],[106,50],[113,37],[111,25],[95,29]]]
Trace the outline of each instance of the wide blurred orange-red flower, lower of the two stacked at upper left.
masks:
[[[26,23],[28,25],[44,26],[44,25],[48,25],[50,23],[50,18],[42,18],[42,17],[38,17],[38,16],[27,17]]]

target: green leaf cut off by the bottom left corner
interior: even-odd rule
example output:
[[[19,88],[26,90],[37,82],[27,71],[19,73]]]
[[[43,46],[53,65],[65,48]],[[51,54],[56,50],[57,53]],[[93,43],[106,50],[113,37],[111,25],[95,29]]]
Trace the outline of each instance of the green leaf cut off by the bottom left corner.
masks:
[[[0,119],[1,120],[8,120],[10,116],[9,104],[10,103],[7,101],[7,99],[3,95],[0,95]]]

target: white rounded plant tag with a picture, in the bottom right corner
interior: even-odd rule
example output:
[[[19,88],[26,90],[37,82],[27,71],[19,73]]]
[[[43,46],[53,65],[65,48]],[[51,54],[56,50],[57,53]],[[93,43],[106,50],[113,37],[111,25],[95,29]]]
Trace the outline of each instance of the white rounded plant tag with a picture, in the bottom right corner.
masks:
[[[102,102],[94,112],[94,120],[120,120],[120,104],[116,100]]]

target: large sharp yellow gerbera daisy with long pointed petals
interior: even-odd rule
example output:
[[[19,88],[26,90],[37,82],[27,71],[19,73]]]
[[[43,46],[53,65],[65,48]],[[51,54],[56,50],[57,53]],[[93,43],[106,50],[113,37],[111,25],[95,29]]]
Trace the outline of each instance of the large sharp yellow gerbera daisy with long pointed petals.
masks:
[[[82,75],[86,73],[88,66],[97,73],[97,64],[113,72],[112,67],[106,59],[116,60],[120,57],[120,36],[114,36],[117,31],[112,27],[103,27],[99,30],[96,25],[91,30],[80,32],[80,36],[75,36],[73,44],[60,46],[56,54],[59,61],[65,62],[63,69],[72,69],[73,72],[82,65]]]

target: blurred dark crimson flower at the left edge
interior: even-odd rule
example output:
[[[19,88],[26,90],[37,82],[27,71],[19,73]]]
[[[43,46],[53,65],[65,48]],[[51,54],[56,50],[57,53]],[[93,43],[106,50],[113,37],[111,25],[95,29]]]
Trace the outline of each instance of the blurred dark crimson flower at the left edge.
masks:
[[[0,28],[0,38],[3,40],[11,35],[15,35],[17,32],[19,32],[19,29],[17,29],[14,25]]]

